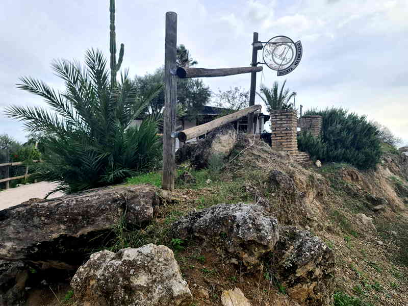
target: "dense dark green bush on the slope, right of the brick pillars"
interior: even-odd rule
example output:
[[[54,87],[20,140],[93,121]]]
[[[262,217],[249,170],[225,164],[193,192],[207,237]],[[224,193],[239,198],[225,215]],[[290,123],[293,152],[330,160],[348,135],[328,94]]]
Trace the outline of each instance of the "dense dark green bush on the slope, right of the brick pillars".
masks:
[[[325,145],[325,150],[319,158],[321,161],[346,162],[359,169],[374,168],[379,163],[381,149],[378,130],[367,121],[366,116],[348,113],[342,108],[327,108],[323,111],[314,109],[304,115],[323,117],[320,142]],[[313,154],[324,149],[324,146],[319,147],[319,140],[313,141],[310,136],[300,136],[300,141],[302,149]]]

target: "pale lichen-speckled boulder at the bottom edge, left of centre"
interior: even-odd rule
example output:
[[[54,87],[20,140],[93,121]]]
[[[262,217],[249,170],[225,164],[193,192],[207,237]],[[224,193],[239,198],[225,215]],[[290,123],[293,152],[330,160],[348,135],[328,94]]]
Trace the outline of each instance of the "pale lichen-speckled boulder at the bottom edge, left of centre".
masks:
[[[71,281],[81,306],[190,306],[192,295],[172,250],[147,244],[91,255]]]

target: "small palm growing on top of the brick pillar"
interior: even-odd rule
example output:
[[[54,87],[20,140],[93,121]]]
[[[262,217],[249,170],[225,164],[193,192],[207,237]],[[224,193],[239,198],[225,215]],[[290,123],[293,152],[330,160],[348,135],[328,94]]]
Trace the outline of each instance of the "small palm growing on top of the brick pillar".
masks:
[[[265,85],[261,85],[262,94],[257,92],[257,94],[264,101],[269,113],[273,110],[284,110],[292,108],[289,100],[292,97],[296,96],[296,92],[292,91],[292,93],[289,93],[289,88],[285,89],[284,91],[285,84],[286,80],[284,84],[282,84],[282,88],[279,91],[279,84],[275,81],[273,82],[272,88],[267,88]]]

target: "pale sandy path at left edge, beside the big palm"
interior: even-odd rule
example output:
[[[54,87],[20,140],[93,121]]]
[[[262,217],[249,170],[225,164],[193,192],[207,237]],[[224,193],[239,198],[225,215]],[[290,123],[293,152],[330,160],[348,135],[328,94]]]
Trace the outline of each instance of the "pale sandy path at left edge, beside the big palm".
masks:
[[[43,198],[48,192],[56,187],[57,184],[55,183],[40,182],[0,191],[0,210],[18,205],[31,198]],[[50,195],[48,199],[63,195],[64,193],[62,192],[56,192]]]

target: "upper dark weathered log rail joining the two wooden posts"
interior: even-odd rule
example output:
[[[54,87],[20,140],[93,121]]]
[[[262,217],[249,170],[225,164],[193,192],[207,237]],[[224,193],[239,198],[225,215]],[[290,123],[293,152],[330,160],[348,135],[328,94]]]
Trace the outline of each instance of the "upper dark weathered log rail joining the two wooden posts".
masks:
[[[226,75],[259,72],[259,71],[262,71],[261,66],[260,67],[219,68],[219,69],[178,67],[176,70],[176,74],[177,74],[177,77],[179,77],[180,79],[190,79],[190,78],[225,77]]]

